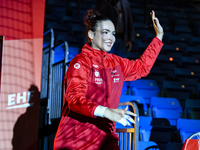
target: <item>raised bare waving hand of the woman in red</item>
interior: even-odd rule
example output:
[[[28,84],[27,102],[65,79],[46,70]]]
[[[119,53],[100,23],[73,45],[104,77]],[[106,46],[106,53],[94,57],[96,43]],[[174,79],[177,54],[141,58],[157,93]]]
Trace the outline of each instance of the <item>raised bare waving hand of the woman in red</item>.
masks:
[[[163,35],[164,35],[163,28],[160,25],[158,18],[155,17],[155,12],[153,10],[150,13],[150,15],[151,15],[151,19],[152,19],[152,22],[153,22],[153,27],[156,31],[156,37],[159,38],[162,41]]]

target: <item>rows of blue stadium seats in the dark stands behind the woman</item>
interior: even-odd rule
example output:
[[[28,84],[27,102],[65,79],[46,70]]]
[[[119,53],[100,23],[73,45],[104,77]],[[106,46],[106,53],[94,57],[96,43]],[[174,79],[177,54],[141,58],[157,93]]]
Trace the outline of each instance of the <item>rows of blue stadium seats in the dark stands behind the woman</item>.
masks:
[[[139,150],[181,150],[185,139],[200,132],[200,11],[189,1],[128,1],[135,27],[135,42],[128,59],[140,58],[155,36],[151,10],[165,35],[150,74],[136,81],[124,81],[120,102],[134,101],[138,106]],[[52,48],[53,63],[67,59],[68,64],[80,53],[87,41],[83,18],[87,9],[95,8],[95,2],[46,1],[44,58],[49,57],[47,51]],[[48,65],[43,67],[45,77]],[[43,83],[45,87],[47,81]],[[46,93],[46,89],[41,91],[45,95],[41,98]]]

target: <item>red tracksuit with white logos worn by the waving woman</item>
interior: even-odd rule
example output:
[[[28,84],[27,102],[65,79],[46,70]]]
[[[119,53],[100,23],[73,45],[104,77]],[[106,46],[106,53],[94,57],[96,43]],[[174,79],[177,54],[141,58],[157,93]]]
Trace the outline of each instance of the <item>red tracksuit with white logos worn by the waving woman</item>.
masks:
[[[123,81],[149,74],[163,43],[155,37],[142,57],[124,59],[85,44],[65,75],[65,104],[54,150],[98,150],[105,138],[118,139],[115,123],[95,117],[98,105],[117,108]]]

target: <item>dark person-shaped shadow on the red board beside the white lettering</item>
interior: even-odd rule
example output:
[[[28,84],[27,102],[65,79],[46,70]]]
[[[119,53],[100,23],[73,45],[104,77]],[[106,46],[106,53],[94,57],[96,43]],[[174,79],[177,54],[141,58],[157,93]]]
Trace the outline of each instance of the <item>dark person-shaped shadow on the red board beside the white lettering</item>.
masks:
[[[28,91],[32,93],[30,106],[14,126],[13,150],[37,150],[40,92],[35,85],[31,85]]]

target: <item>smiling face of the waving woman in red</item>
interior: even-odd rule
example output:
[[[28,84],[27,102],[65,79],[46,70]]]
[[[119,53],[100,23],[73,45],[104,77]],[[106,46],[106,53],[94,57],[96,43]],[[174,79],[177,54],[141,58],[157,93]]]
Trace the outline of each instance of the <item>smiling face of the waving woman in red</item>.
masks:
[[[96,31],[90,30],[88,36],[92,41],[92,48],[109,52],[115,43],[115,26],[110,20],[101,21],[97,24]]]

